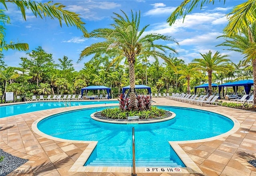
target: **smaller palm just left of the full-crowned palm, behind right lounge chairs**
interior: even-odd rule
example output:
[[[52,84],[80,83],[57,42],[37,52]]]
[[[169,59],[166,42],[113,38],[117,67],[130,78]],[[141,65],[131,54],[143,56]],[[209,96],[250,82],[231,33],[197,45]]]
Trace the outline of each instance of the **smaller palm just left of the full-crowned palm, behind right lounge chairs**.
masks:
[[[188,65],[184,64],[180,66],[180,70],[177,71],[177,74],[181,74],[179,80],[186,79],[187,80],[187,94],[190,94],[190,78],[193,77],[196,72],[198,72],[196,66],[193,63],[189,63]]]

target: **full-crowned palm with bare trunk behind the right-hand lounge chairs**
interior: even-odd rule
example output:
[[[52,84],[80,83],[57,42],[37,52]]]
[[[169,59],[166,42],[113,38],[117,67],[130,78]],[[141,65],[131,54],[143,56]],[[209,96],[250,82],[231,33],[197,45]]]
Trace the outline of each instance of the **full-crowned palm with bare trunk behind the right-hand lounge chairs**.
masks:
[[[220,55],[220,52],[216,53],[212,57],[212,51],[209,51],[206,54],[201,54],[202,59],[193,59],[198,68],[204,72],[208,73],[208,84],[209,84],[209,96],[212,94],[212,72],[225,70],[228,67],[230,59],[226,59],[228,55]]]

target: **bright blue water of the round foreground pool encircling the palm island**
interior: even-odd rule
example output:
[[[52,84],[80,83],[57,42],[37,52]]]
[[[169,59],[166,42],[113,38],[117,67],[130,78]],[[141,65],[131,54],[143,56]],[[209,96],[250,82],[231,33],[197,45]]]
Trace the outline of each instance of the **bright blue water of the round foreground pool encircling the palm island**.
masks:
[[[120,160],[116,166],[123,166],[124,161],[132,158],[132,127],[135,128],[136,160],[144,160],[136,166],[148,166],[145,160],[171,160],[178,166],[184,166],[172,151],[168,141],[187,141],[205,139],[220,135],[232,129],[234,123],[222,115],[195,110],[159,106],[176,113],[174,119],[148,124],[114,124],[91,119],[95,108],[69,111],[43,119],[38,129],[47,135],[71,140],[98,141],[96,149],[85,165],[100,160],[104,165],[110,158]],[[104,108],[97,108],[100,111]],[[72,118],[70,118],[72,117]],[[110,161],[109,161],[110,162]],[[103,163],[103,164],[102,164]],[[113,163],[105,163],[113,165]]]

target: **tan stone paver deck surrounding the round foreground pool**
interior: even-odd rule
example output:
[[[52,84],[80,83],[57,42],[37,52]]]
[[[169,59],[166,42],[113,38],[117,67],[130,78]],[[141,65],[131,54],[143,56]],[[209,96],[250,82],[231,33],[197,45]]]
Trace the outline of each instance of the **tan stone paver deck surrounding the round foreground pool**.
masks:
[[[166,98],[153,98],[153,100],[156,101],[154,105],[200,108],[229,115],[240,123],[240,128],[228,136],[213,141],[176,144],[182,149],[180,152],[189,156],[201,172],[193,173],[191,170],[190,173],[145,173],[144,170],[137,170],[138,176],[256,176],[256,168],[248,163],[249,160],[256,159],[256,112],[211,105],[201,107]],[[9,175],[130,176],[132,168],[94,167],[68,172],[84,151],[92,150],[92,144],[86,141],[49,139],[32,130],[32,124],[42,117],[85,107],[92,106],[57,108],[1,118],[0,148],[14,156],[29,160],[17,168],[16,173]],[[18,174],[18,172],[27,173]]]

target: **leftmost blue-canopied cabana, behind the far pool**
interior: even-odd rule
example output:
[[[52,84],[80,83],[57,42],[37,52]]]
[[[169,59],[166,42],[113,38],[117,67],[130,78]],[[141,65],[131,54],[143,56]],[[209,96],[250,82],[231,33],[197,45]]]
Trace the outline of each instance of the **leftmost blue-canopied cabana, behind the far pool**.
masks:
[[[92,96],[88,96],[87,92],[88,90],[106,90],[107,94],[105,96],[106,99],[110,99],[110,92],[111,92],[111,88],[106,87],[106,86],[87,86],[81,89],[81,96],[83,96],[84,91],[85,91],[85,96],[84,99],[87,100],[95,100],[98,99],[98,95],[92,95]],[[102,95],[103,97],[103,95]],[[100,98],[103,99],[103,98]]]

